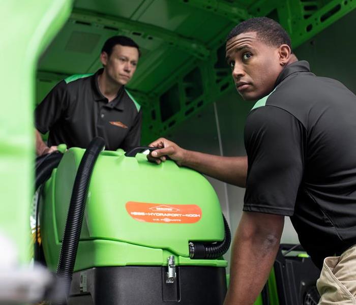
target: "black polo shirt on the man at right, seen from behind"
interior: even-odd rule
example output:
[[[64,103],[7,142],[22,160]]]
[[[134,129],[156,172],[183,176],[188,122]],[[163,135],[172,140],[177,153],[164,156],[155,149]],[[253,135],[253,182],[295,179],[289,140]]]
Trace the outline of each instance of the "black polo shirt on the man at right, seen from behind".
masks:
[[[245,126],[245,211],[290,216],[318,267],[356,243],[356,97],[288,65]]]

